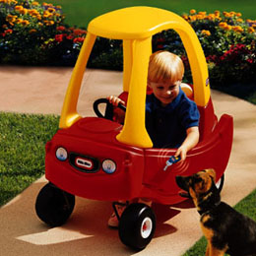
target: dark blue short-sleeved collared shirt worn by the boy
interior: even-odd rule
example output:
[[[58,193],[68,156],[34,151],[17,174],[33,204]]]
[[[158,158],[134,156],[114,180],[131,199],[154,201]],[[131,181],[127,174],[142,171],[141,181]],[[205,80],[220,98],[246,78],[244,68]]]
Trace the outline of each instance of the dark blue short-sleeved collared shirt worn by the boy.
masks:
[[[199,111],[181,89],[172,102],[161,106],[154,94],[146,100],[146,128],[154,148],[178,148],[185,140],[186,130],[199,125]]]

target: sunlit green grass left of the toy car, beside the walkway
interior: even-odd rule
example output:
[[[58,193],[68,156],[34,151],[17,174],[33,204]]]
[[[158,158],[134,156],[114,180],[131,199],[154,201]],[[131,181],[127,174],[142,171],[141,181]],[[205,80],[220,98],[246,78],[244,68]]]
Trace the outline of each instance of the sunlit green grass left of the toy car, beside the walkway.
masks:
[[[58,117],[0,112],[0,206],[44,173],[44,145]]]

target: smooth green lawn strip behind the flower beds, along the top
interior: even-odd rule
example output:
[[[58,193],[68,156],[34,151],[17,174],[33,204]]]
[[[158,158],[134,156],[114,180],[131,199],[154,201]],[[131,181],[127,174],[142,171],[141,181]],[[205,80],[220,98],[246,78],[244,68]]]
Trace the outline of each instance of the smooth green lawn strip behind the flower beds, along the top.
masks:
[[[40,0],[38,2],[45,2]],[[175,12],[179,15],[191,9],[207,11],[235,11],[242,13],[244,19],[256,19],[255,0],[48,0],[48,3],[62,6],[66,23],[71,26],[87,28],[88,23],[98,15],[130,6],[152,6]]]

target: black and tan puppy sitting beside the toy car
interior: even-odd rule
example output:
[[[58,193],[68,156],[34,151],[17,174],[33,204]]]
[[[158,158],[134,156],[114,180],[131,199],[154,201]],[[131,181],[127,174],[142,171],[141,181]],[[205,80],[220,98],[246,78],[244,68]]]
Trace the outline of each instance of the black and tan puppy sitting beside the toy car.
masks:
[[[208,240],[206,256],[256,255],[256,223],[221,202],[215,170],[176,176],[176,183],[190,195],[201,215],[201,227]]]

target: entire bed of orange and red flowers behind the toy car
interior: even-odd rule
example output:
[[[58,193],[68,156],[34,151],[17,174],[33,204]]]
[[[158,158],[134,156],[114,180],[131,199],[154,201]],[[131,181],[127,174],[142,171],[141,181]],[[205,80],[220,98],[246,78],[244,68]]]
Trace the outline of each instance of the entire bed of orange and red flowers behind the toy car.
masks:
[[[256,21],[245,21],[235,12],[196,10],[183,18],[202,44],[212,87],[255,81]],[[73,66],[87,33],[65,25],[60,6],[32,0],[0,0],[0,24],[1,64]],[[191,82],[189,63],[176,32],[154,36],[153,50],[162,49],[182,57],[185,80]],[[122,70],[121,41],[97,38],[89,67]]]

